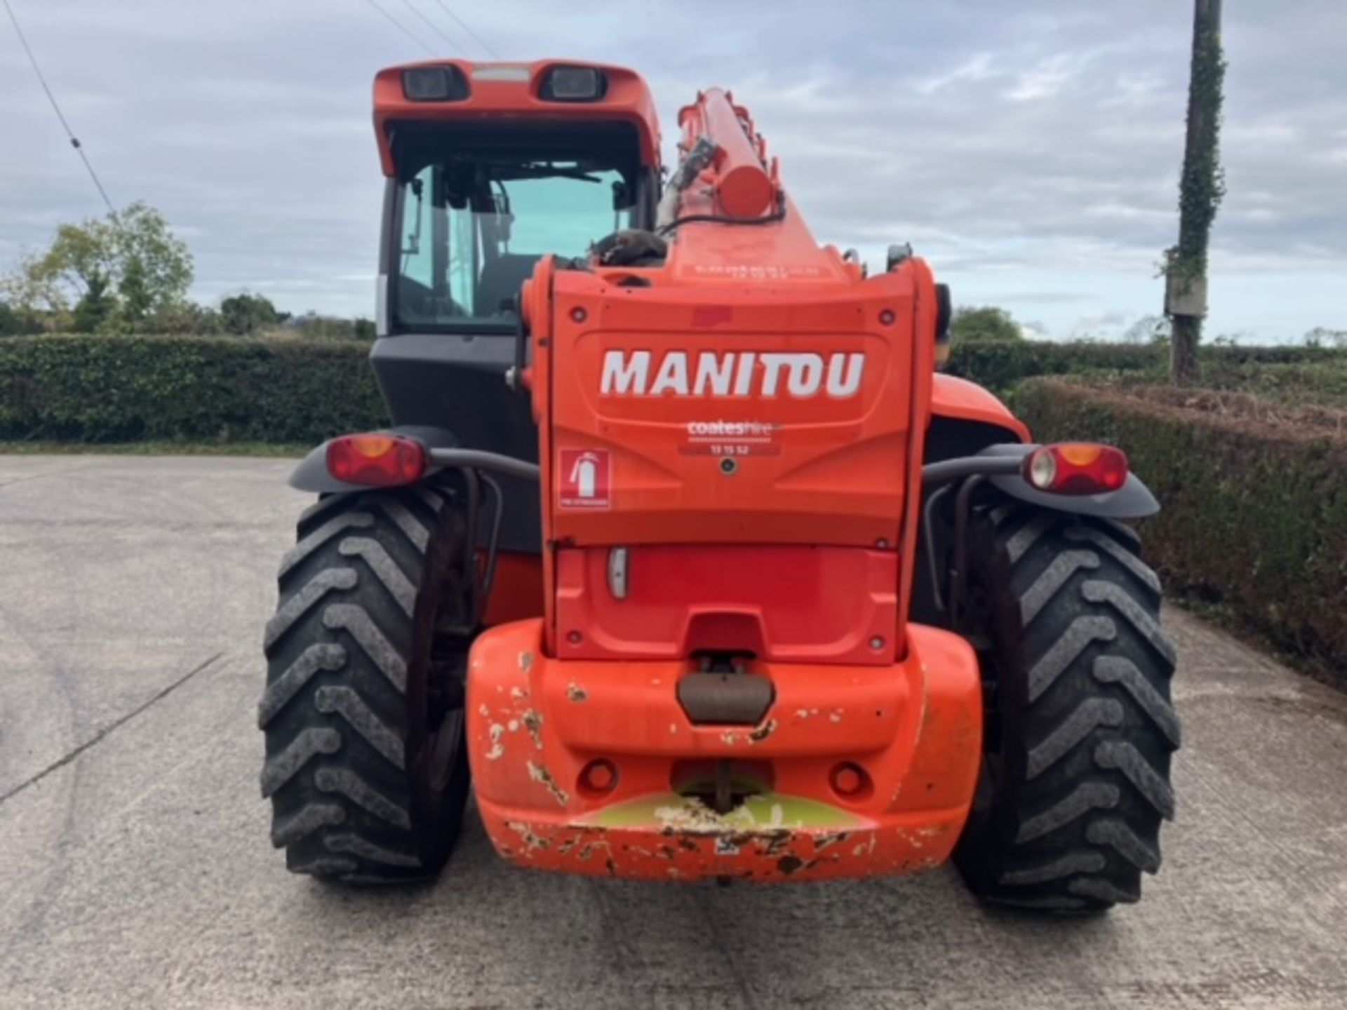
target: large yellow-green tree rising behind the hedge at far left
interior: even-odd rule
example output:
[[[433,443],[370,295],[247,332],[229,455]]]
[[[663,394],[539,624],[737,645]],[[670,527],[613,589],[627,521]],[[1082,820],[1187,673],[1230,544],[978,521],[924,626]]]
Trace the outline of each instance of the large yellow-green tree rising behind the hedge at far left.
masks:
[[[51,246],[0,283],[15,311],[55,315],[82,327],[131,330],[180,302],[191,252],[163,214],[143,202],[78,225],[61,225]],[[61,319],[74,306],[74,316]]]

